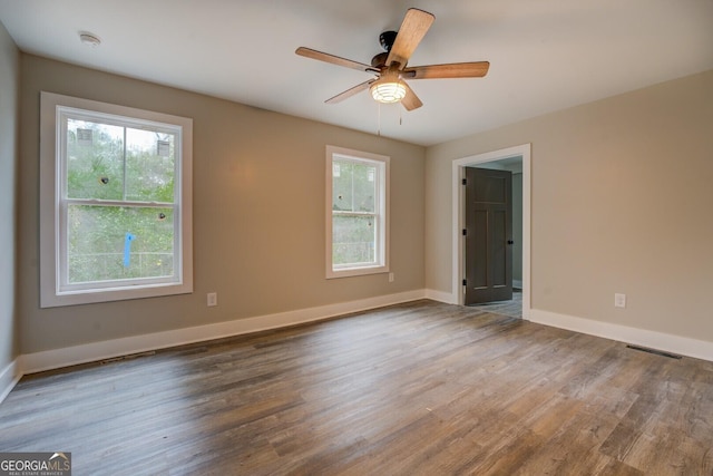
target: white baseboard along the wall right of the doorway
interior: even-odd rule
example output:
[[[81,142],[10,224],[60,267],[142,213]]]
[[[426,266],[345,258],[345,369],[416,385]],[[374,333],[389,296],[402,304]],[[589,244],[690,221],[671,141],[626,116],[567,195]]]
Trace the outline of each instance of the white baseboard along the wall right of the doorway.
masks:
[[[558,314],[539,309],[530,310],[530,321],[649,349],[663,350],[680,356],[713,361],[713,342],[704,340],[629,328],[611,322],[594,321],[592,319],[575,318],[573,315]]]

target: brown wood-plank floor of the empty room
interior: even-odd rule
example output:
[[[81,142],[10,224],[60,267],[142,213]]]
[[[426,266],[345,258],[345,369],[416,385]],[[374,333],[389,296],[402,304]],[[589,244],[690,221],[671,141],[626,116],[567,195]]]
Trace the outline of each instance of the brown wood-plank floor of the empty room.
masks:
[[[419,301],[23,378],[75,475],[713,475],[713,362]]]

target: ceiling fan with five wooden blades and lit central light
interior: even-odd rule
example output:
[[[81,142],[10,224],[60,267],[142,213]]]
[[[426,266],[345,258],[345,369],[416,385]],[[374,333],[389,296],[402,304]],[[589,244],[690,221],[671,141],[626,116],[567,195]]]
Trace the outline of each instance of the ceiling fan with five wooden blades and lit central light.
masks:
[[[379,103],[401,101],[407,110],[413,110],[423,106],[423,103],[404,79],[481,78],[486,76],[490,67],[488,61],[407,66],[409,58],[434,19],[436,17],[428,11],[409,9],[398,32],[384,31],[379,36],[379,42],[385,52],[374,56],[371,59],[371,65],[305,47],[297,48],[295,52],[306,58],[375,75],[374,78],[326,99],[326,104],[340,103],[358,93],[370,89],[372,97]]]

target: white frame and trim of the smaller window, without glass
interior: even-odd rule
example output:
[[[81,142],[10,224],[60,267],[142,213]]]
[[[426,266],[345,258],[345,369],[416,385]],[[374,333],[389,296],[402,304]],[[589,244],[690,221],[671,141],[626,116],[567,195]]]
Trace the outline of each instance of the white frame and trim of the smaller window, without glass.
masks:
[[[378,164],[377,211],[377,264],[335,268],[332,262],[332,174],[334,159]],[[326,279],[359,276],[389,272],[389,183],[390,161],[385,155],[353,150],[332,145],[326,146],[326,195],[325,195],[325,274]]]

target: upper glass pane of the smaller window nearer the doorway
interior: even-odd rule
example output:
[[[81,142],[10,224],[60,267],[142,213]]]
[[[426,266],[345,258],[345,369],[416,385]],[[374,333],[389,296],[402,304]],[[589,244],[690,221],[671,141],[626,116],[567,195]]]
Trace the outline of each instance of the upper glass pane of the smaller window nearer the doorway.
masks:
[[[332,164],[332,210],[373,213],[377,166],[351,161]]]

